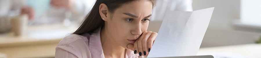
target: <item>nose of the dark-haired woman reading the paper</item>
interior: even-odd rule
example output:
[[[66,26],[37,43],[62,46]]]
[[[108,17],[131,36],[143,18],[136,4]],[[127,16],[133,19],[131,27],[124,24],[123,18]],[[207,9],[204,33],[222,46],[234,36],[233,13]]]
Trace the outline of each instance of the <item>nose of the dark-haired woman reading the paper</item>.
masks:
[[[142,25],[141,23],[137,23],[133,26],[133,30],[131,30],[131,34],[134,34],[134,35],[141,35],[142,34]]]

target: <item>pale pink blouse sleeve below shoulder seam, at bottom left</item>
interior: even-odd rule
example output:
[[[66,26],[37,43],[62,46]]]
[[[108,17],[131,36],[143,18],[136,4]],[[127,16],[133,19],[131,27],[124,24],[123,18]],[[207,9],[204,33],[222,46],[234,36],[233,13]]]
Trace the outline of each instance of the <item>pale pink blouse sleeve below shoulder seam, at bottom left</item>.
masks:
[[[55,58],[78,58],[78,57],[71,52],[68,52],[64,49],[57,47],[55,48]]]

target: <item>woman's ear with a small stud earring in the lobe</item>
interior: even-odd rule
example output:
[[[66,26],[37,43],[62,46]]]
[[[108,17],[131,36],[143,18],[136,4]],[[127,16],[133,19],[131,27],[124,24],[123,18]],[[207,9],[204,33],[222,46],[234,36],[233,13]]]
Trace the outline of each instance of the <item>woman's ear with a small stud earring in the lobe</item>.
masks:
[[[99,6],[99,12],[100,12],[100,15],[101,15],[101,18],[104,20],[104,21],[107,21],[108,20],[108,7],[106,4],[102,3],[100,4]]]

